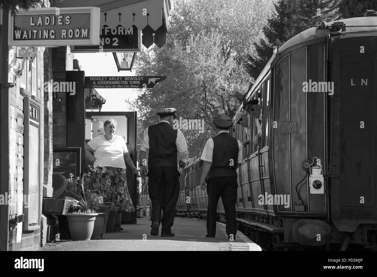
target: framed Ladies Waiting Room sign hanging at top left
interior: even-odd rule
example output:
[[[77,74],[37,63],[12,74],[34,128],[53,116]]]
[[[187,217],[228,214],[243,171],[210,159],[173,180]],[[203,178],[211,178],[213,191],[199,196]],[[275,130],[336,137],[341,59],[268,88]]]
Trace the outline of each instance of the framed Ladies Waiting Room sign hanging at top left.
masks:
[[[100,8],[38,8],[9,17],[8,45],[100,44]]]

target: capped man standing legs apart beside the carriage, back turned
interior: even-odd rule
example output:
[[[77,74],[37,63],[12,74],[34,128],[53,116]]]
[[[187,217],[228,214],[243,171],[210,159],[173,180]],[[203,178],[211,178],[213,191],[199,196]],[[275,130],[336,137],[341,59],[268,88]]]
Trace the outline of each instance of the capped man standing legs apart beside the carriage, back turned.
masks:
[[[217,136],[207,140],[202,152],[204,160],[201,176],[201,187],[207,185],[207,234],[206,238],[215,238],[216,210],[219,198],[224,204],[227,221],[226,232],[228,238],[235,239],[237,233],[236,200],[237,200],[237,172],[242,163],[242,144],[229,135],[228,129],[233,125],[226,115],[216,115],[213,124],[217,128]]]

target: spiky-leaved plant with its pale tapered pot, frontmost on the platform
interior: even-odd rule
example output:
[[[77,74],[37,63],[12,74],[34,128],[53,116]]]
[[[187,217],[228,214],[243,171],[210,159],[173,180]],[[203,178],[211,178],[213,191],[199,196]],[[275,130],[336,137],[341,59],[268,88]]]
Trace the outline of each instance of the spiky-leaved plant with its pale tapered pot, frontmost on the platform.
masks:
[[[101,197],[87,187],[90,176],[91,173],[89,172],[84,173],[81,179],[79,177],[74,179],[74,175],[71,173],[68,179],[66,191],[69,194],[73,194],[75,198],[66,196],[70,207],[70,213],[67,213],[66,216],[69,233],[74,241],[90,240],[93,235],[95,220],[98,216],[97,211],[103,205]],[[96,227],[101,230],[101,217],[98,219],[100,222],[96,224]]]

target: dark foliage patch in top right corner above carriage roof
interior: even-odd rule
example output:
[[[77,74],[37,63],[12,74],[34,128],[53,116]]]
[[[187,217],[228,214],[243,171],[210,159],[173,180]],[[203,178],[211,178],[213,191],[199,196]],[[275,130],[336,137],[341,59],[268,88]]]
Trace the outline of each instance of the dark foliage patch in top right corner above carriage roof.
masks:
[[[343,0],[339,5],[339,12],[342,18],[359,17],[366,10],[377,11],[377,1],[375,0]]]

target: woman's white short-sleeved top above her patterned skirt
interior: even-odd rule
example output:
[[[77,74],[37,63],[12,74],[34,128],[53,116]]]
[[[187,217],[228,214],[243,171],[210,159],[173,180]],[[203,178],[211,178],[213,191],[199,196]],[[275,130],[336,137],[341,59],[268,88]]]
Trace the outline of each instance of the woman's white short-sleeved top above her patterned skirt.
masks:
[[[113,135],[107,141],[104,135],[97,136],[88,142],[94,151],[94,167],[126,168],[123,155],[128,152],[126,142],[122,136]]]

